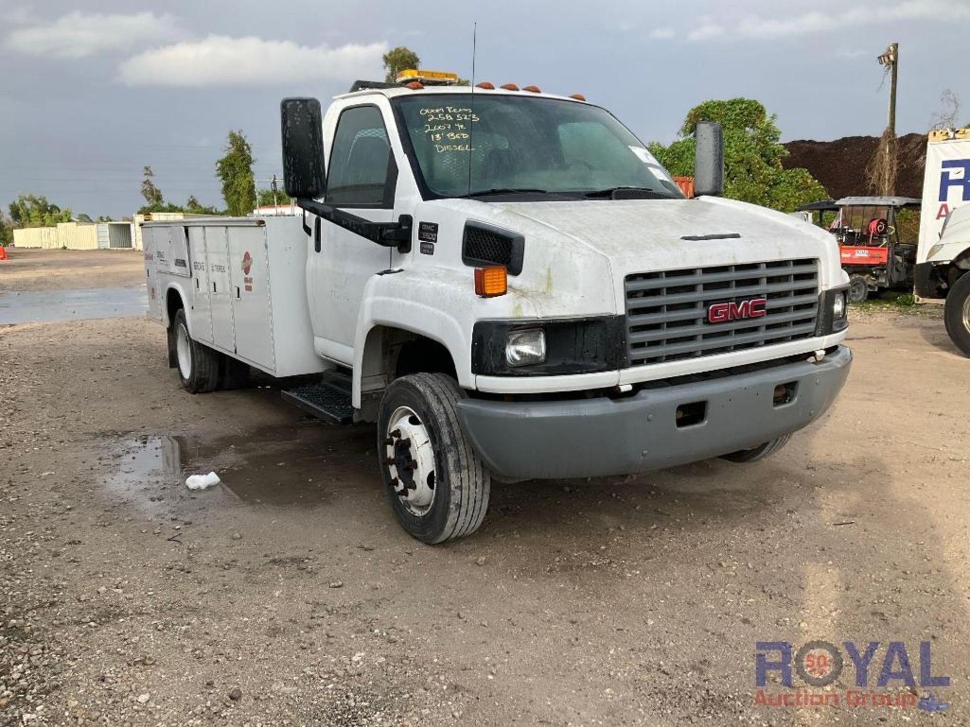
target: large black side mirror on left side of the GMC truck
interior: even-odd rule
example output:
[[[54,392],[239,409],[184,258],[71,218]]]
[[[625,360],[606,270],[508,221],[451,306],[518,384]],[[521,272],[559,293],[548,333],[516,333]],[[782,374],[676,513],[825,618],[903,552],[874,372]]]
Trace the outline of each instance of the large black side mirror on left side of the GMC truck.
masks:
[[[294,199],[323,194],[323,114],[316,99],[283,99],[279,103],[283,142],[283,182]]]

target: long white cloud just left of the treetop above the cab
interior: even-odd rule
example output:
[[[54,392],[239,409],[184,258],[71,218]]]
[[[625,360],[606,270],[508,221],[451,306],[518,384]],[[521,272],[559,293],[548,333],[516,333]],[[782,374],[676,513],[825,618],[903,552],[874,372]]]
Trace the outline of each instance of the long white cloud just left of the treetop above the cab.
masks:
[[[186,88],[361,79],[380,73],[386,51],[385,43],[307,47],[210,35],[128,58],[118,67],[118,79],[132,86]]]

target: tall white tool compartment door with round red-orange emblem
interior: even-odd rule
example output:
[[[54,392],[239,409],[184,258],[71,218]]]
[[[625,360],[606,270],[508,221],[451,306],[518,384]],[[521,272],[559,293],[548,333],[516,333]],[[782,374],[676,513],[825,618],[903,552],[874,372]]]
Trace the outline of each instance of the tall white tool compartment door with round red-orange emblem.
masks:
[[[246,361],[275,371],[266,227],[245,225],[228,230],[236,353]]]

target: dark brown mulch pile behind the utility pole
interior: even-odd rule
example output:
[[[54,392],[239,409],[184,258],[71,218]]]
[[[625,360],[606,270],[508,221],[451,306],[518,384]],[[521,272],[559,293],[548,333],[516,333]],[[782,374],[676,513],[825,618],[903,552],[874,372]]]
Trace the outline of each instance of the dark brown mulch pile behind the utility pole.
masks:
[[[876,153],[879,137],[844,137],[834,142],[788,142],[786,169],[804,168],[828,190],[832,199],[870,195],[865,168]],[[922,170],[926,162],[926,135],[906,134],[897,140],[899,172],[896,194],[922,197]]]

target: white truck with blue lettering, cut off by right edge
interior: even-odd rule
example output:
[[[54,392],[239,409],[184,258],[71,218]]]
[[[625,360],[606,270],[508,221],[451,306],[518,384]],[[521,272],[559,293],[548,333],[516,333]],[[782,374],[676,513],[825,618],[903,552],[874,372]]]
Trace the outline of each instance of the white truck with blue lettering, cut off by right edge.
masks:
[[[947,332],[970,356],[970,129],[929,133],[916,294],[944,301]]]

